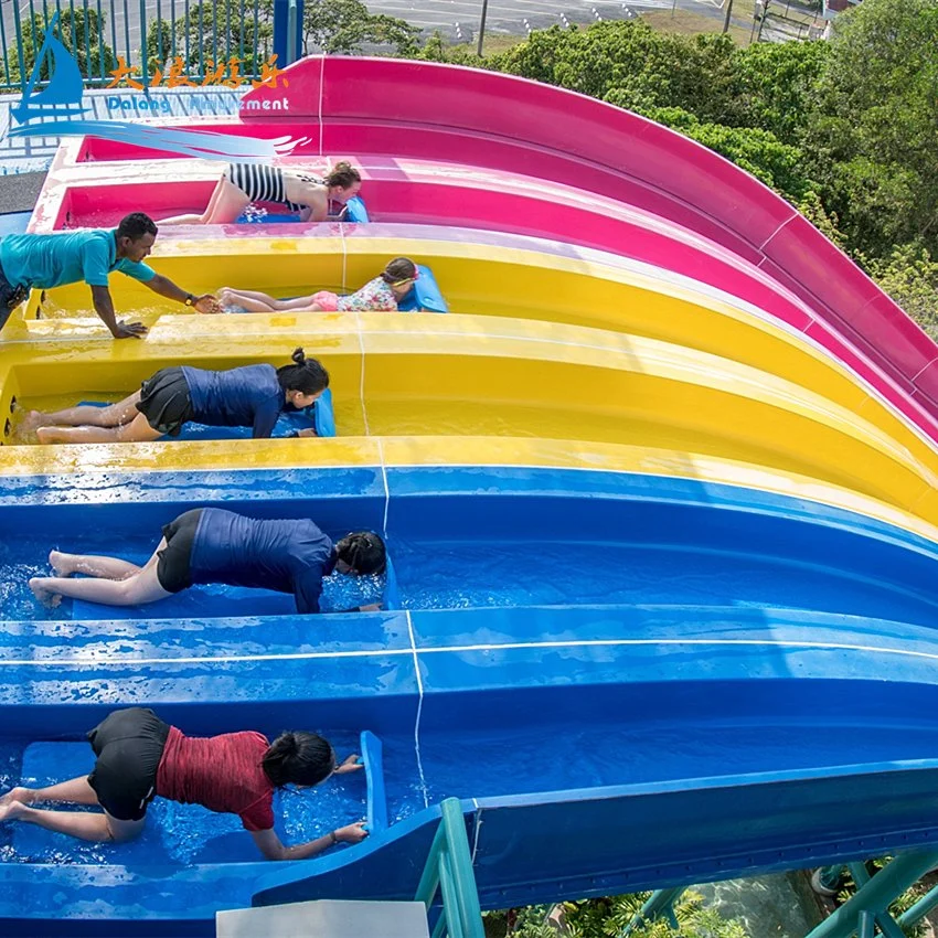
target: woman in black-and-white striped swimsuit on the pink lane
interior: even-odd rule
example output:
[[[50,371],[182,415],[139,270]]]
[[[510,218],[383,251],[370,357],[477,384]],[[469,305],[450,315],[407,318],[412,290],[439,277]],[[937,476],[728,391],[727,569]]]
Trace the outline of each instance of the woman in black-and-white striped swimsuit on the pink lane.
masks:
[[[337,163],[326,179],[315,179],[263,163],[231,163],[225,168],[209,206],[201,215],[173,215],[161,225],[225,225],[254,202],[284,205],[303,222],[324,222],[330,202],[359,194],[362,178],[350,163]]]

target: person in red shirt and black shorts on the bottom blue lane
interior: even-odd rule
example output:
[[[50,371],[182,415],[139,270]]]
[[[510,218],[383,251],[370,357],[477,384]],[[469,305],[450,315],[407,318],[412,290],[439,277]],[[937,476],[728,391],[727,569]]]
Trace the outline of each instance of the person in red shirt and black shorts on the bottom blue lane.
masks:
[[[97,759],[89,776],[49,788],[13,788],[0,798],[0,822],[26,821],[87,841],[132,840],[156,796],[237,814],[267,860],[305,860],[337,843],[361,843],[363,822],[286,846],[274,831],[274,789],[308,788],[362,768],[356,755],[341,765],[316,733],[185,736],[145,707],[119,710],[88,733]],[[33,808],[35,802],[99,804],[104,813]]]

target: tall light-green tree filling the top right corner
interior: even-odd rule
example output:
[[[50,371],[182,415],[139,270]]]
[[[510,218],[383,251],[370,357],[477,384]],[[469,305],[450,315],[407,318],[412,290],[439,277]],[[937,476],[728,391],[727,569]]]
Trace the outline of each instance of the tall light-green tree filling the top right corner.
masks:
[[[938,249],[938,3],[864,0],[838,17],[808,145],[848,245]]]

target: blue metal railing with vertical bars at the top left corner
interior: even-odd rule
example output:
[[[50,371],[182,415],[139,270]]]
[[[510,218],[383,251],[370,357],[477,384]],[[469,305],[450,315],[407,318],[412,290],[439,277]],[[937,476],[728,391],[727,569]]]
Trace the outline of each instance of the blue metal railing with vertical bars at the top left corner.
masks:
[[[301,54],[301,0],[288,6],[283,0],[156,0],[156,9],[147,0],[15,0],[0,3],[0,92],[24,89],[56,13],[56,35],[86,87],[107,87],[125,68],[130,71],[118,86],[128,78],[143,87],[167,86],[173,64],[174,78],[195,85],[234,76],[251,81],[262,77],[273,55],[284,67]],[[275,33],[283,35],[279,44]],[[50,70],[44,63],[40,84]]]

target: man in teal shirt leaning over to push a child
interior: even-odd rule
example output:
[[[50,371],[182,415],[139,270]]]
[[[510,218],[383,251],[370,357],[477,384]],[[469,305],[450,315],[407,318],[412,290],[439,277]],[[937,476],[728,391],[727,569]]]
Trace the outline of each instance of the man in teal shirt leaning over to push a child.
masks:
[[[213,296],[188,294],[142,263],[156,239],[157,226],[142,212],[127,215],[117,228],[0,238],[0,329],[31,289],[47,290],[84,280],[92,288],[95,312],[115,339],[146,335],[147,327],[141,322],[117,320],[107,286],[111,270],[198,312],[216,312]]]

